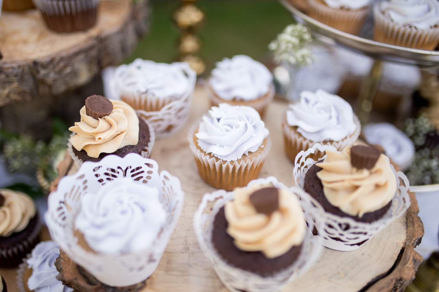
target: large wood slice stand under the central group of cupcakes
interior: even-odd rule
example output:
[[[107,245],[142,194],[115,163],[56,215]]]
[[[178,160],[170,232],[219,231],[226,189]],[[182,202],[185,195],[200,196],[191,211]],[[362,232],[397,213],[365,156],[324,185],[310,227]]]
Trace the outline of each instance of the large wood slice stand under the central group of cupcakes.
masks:
[[[264,121],[270,130],[273,146],[266,158],[260,177],[275,176],[286,185],[293,185],[293,164],[284,153],[281,122],[287,104],[275,100],[268,108]],[[202,86],[197,86],[192,101],[187,127],[177,135],[155,142],[151,158],[158,162],[160,171],[167,170],[180,178],[185,192],[180,221],[171,236],[162,260],[142,292],[226,292],[195,237],[195,210],[205,192],[215,189],[202,181],[189,143],[189,127],[209,109],[209,101]],[[73,174],[76,163],[67,155],[60,165],[60,175]],[[55,189],[58,181],[54,182]],[[410,194],[411,207],[407,214],[394,221],[373,239],[355,251],[340,252],[324,249],[320,261],[302,278],[290,283],[282,292],[402,292],[414,279],[422,257],[414,251],[424,235],[424,227],[417,216],[418,205]],[[7,274],[5,272],[8,272]],[[17,292],[14,270],[0,270],[6,278],[9,292]],[[11,288],[10,288],[11,287]]]

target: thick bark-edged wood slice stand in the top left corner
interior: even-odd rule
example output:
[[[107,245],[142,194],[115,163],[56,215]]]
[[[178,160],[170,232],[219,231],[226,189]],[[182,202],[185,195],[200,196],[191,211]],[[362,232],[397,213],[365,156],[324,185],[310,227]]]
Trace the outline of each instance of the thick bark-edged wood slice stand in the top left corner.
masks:
[[[0,18],[0,106],[58,95],[119,65],[149,25],[148,0],[101,1],[97,24],[85,32],[50,31],[36,9]]]

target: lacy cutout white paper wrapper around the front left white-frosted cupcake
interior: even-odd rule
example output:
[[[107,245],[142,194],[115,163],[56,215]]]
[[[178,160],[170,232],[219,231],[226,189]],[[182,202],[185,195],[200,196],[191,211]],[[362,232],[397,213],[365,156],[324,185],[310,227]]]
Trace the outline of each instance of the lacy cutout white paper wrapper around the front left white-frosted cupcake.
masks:
[[[88,252],[79,245],[74,234],[73,224],[79,212],[79,199],[87,192],[96,193],[108,181],[122,178],[157,187],[160,202],[167,214],[166,225],[155,243],[139,253],[107,255]],[[155,271],[180,217],[183,203],[184,192],[180,180],[168,171],[159,173],[155,160],[136,153],[123,158],[109,155],[98,162],[87,161],[76,174],[61,178],[58,189],[48,197],[45,219],[50,236],[72,261],[106,285],[125,287],[144,281]]]

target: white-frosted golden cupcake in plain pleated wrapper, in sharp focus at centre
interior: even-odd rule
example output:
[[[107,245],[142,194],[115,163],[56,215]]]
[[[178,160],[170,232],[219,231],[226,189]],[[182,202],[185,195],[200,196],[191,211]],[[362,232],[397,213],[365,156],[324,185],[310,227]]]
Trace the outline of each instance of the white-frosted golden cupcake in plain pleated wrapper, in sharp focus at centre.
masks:
[[[268,134],[254,108],[220,103],[191,128],[187,139],[204,181],[232,190],[258,177],[271,148]]]

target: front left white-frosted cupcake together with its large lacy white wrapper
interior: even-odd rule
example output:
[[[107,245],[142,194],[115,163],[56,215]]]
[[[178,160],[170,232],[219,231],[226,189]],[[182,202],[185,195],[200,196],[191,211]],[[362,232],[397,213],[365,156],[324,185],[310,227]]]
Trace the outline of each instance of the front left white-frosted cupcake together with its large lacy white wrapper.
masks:
[[[184,203],[180,180],[130,153],[85,162],[48,197],[51,237],[105,285],[126,287],[157,268]]]

